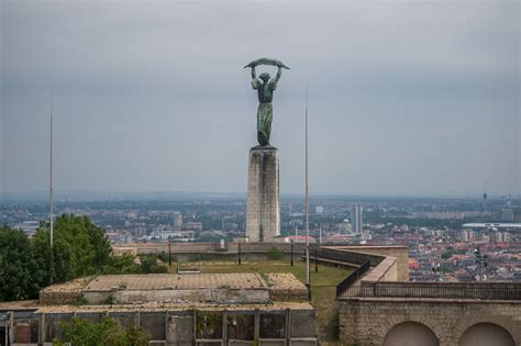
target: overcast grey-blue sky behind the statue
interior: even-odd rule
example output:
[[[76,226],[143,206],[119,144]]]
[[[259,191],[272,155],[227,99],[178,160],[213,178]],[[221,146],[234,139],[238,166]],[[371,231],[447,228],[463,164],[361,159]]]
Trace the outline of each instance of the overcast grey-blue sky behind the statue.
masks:
[[[277,57],[282,192],[520,191],[520,2],[1,0],[0,192],[245,192]],[[270,70],[274,75],[274,70]]]

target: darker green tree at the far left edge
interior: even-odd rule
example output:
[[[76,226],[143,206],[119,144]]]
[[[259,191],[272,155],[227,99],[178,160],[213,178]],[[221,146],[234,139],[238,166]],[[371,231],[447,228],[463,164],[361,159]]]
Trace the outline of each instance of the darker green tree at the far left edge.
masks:
[[[21,230],[0,227],[0,301],[36,298],[38,275],[25,234]]]

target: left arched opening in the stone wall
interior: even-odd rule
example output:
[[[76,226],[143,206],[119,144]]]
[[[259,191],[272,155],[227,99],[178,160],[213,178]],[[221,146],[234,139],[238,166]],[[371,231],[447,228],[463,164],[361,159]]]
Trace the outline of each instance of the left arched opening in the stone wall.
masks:
[[[436,335],[418,322],[395,325],[386,335],[384,346],[439,346]]]

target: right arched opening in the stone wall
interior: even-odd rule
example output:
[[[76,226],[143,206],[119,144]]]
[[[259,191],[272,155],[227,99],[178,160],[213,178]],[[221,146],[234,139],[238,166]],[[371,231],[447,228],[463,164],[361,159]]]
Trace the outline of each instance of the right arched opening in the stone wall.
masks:
[[[468,327],[459,338],[459,346],[516,346],[512,335],[494,323],[478,323]]]

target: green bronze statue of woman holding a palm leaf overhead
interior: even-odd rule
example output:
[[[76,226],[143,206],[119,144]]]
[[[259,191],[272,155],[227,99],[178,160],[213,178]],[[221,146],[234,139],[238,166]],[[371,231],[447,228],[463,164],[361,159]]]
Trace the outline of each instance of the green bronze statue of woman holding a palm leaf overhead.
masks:
[[[255,75],[255,67],[257,65],[277,66],[277,76],[274,79],[269,74],[260,74],[259,78]],[[277,82],[282,75],[282,68],[289,69],[286,65],[277,59],[260,58],[244,66],[244,68],[252,68],[252,87],[257,90],[258,109],[257,109],[257,141],[260,146],[269,146],[269,134],[271,133],[271,120],[274,116],[274,108],[271,100],[274,98],[274,90],[277,88]]]

